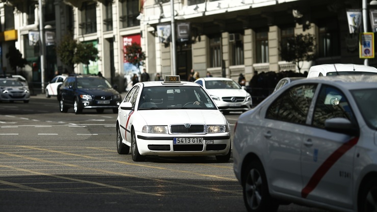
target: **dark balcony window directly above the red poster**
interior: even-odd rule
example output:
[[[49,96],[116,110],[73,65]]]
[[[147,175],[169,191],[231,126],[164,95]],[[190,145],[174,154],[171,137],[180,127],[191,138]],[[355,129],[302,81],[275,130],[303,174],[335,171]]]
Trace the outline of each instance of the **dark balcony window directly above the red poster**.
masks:
[[[139,1],[138,0],[123,0],[122,2],[122,16],[120,21],[122,27],[131,27],[140,25],[139,16]]]

